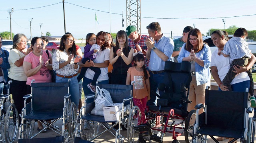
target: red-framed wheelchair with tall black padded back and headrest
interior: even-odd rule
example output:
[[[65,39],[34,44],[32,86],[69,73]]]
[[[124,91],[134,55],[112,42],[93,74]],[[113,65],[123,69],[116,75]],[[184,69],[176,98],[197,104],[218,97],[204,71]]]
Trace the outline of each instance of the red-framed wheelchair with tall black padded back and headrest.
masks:
[[[159,98],[156,106],[147,106],[145,112],[147,123],[134,127],[134,130],[139,133],[140,143],[151,143],[151,141],[162,143],[166,133],[172,133],[172,139],[174,139],[172,143],[178,143],[177,137],[184,134],[188,116],[187,106],[191,103],[188,100],[188,92],[186,94],[192,80],[191,74],[193,74],[190,68],[191,63],[188,61],[165,62],[166,78],[163,81],[165,84],[158,85],[158,90],[163,91],[164,94],[159,96],[155,91],[150,92]],[[143,134],[146,131],[149,137]]]

